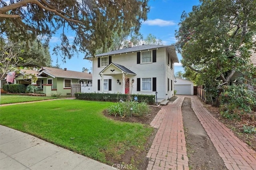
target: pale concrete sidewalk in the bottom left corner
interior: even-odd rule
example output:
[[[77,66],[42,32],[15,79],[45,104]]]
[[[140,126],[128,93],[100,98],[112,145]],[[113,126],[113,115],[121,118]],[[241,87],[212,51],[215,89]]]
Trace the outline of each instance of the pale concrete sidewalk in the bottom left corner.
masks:
[[[0,125],[1,170],[113,170],[112,166]]]

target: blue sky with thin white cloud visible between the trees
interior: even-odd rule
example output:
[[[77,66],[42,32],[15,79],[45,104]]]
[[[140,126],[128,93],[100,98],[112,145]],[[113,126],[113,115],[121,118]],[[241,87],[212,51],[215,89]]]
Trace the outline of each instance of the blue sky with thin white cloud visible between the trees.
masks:
[[[183,11],[187,13],[192,11],[192,6],[199,5],[199,0],[150,0],[150,12],[148,13],[148,20],[142,23],[140,33],[143,37],[148,34],[155,35],[161,39],[164,45],[171,45],[176,42],[174,33],[178,30],[178,23]],[[74,37],[72,33],[69,36],[70,40]],[[50,53],[56,43],[60,42],[58,35],[52,37],[50,41]],[[179,60],[181,55],[177,54]],[[56,65],[57,56],[51,55],[52,65]],[[67,59],[66,63],[62,62],[61,56],[58,56],[58,64],[61,68],[68,68],[68,70],[82,71],[82,68],[92,68],[92,63],[84,60],[84,54],[73,56],[72,59]],[[183,71],[180,63],[174,64],[174,72]]]

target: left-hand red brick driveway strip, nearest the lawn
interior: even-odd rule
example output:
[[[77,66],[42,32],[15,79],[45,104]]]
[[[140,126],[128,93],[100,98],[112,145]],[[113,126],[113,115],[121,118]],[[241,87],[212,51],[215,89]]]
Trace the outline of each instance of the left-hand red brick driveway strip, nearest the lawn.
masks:
[[[148,152],[147,170],[188,170],[181,106],[184,97],[163,106],[151,122],[159,128]]]

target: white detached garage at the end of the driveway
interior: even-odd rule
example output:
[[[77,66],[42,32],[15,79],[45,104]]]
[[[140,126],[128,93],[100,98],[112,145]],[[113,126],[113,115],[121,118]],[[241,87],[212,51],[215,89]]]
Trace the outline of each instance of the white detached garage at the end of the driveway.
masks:
[[[177,95],[194,95],[194,84],[183,78],[174,78],[174,90]]]

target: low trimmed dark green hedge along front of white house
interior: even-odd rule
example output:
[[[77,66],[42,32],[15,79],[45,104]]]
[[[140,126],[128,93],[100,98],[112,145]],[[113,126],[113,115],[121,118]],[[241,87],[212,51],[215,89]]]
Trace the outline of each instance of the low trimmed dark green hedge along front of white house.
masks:
[[[142,95],[132,94],[132,100],[134,97],[138,98],[138,102],[146,102],[147,104],[155,103],[154,95]],[[76,99],[79,100],[94,100],[94,101],[108,101],[108,102],[120,102],[128,100],[128,94],[108,94],[108,93],[75,93]]]

